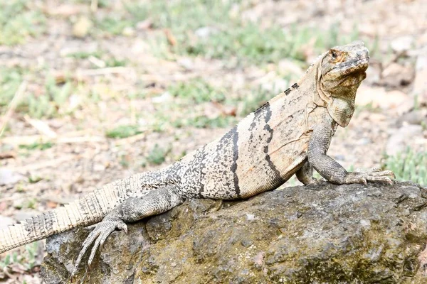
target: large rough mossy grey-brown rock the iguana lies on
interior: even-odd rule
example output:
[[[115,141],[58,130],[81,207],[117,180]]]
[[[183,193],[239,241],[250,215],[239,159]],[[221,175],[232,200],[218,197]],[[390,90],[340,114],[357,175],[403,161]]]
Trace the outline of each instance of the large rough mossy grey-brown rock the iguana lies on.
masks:
[[[73,283],[427,283],[417,260],[426,207],[427,189],[409,182],[189,200],[114,232]],[[48,239],[46,283],[69,283],[89,231]]]

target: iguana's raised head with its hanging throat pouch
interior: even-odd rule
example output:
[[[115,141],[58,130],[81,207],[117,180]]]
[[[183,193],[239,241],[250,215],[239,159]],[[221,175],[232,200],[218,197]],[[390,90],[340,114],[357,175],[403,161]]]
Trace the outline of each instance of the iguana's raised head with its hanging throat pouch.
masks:
[[[368,65],[369,51],[362,41],[331,48],[322,56],[317,91],[339,126],[347,126],[353,116],[356,91],[367,77]]]

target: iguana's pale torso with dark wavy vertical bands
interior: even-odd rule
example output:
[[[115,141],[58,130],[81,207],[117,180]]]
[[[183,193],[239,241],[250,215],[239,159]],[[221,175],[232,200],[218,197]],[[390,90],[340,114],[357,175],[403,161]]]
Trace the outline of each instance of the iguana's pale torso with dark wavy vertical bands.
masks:
[[[327,114],[325,108],[312,107],[312,72],[221,138],[172,165],[181,177],[181,192],[188,197],[236,199],[286,182],[307,158],[315,116]]]

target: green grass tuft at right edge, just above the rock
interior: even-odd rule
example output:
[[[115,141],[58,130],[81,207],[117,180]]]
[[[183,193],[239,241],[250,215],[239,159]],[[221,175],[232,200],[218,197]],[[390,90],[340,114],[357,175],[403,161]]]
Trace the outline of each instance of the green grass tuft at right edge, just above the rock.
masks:
[[[427,185],[427,152],[415,153],[407,148],[404,153],[386,157],[384,168],[392,170],[397,180]]]

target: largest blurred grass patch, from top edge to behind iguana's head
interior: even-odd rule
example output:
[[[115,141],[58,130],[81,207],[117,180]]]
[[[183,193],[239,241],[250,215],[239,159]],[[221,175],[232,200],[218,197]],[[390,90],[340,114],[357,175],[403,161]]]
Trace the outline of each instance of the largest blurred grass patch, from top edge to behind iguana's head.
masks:
[[[316,53],[325,48],[348,43],[359,38],[358,28],[353,33],[341,35],[339,24],[324,29],[295,25],[283,29],[243,21],[241,11],[251,8],[246,1],[126,1],[125,11],[114,16],[95,20],[102,33],[117,35],[125,27],[135,27],[149,19],[157,33],[151,40],[152,52],[165,58],[174,55],[203,56],[205,58],[230,59],[238,62],[261,64],[278,62],[282,58],[304,61],[307,43],[312,43]],[[163,29],[168,29],[176,39],[176,45],[168,43]],[[207,31],[205,35],[201,29]],[[149,39],[150,42],[150,39]]]

